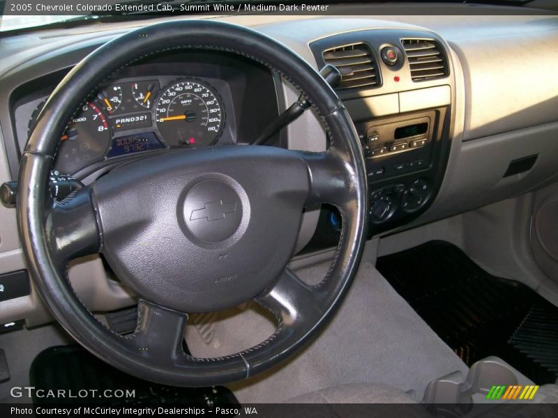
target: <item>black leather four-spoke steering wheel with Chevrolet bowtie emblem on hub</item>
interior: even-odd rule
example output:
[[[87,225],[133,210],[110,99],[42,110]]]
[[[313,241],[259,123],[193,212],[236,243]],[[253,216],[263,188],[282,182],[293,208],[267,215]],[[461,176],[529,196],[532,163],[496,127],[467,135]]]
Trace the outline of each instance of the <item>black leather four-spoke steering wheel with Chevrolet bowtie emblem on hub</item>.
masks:
[[[103,80],[170,49],[213,49],[263,63],[302,91],[331,146],[169,150],[122,164],[61,202],[47,181],[66,122]],[[176,386],[218,385],[278,364],[338,307],[359,265],[366,222],[359,139],[331,87],[275,40],[232,24],[175,21],[130,31],[86,56],[45,104],[22,156],[17,215],[27,265],[54,318],[94,355],[130,375]],[[303,208],[331,203],[342,231],[331,268],[309,286],[287,268]],[[80,302],[68,262],[101,252],[137,293],[135,332],[108,330]],[[225,357],[183,350],[186,313],[255,300],[277,319],[266,341]]]

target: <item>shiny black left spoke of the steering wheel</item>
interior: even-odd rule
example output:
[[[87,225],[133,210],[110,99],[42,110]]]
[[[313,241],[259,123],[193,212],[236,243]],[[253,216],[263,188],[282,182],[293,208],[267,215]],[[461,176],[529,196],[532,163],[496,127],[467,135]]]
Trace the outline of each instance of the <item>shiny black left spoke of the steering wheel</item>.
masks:
[[[54,201],[47,211],[47,240],[59,263],[96,254],[100,233],[89,188],[80,189],[61,202]]]

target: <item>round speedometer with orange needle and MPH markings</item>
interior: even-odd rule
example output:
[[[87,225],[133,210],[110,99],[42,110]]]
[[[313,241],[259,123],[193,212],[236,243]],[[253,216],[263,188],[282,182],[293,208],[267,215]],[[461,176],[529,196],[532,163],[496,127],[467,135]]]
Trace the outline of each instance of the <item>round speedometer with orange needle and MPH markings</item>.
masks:
[[[156,107],[157,127],[170,146],[208,146],[223,131],[225,112],[213,88],[197,79],[169,86]]]

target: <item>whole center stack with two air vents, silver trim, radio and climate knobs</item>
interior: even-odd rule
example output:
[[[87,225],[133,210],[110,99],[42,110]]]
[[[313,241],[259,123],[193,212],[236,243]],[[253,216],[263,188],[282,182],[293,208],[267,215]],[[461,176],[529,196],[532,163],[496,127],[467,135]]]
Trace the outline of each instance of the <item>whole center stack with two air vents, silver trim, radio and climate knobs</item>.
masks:
[[[446,43],[428,31],[374,29],[310,48],[319,67],[342,74],[336,92],[365,155],[369,237],[404,226],[428,209],[444,178],[455,90]],[[319,227],[338,230],[335,210],[324,210]]]

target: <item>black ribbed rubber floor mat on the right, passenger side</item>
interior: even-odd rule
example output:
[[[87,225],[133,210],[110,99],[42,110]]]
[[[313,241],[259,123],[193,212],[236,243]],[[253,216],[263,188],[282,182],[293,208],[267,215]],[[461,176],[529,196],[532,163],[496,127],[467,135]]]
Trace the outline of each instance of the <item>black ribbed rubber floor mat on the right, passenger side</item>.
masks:
[[[495,355],[537,385],[557,380],[558,308],[531,288],[442,241],[380,257],[377,269],[467,365]]]

